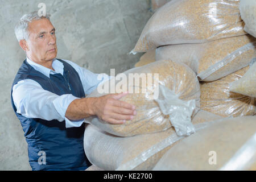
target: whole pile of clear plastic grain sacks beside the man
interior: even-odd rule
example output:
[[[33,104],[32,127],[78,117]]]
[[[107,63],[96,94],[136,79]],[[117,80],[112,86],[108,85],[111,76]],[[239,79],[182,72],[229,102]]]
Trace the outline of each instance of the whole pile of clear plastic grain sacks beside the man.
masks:
[[[107,90],[114,86],[114,93],[138,89],[121,99],[137,106],[136,117],[123,125],[86,119],[84,149],[94,166],[104,170],[220,169],[234,161],[233,156],[256,131],[256,116],[248,116],[256,114],[256,85],[251,85],[255,84],[256,39],[243,30],[239,3],[172,0],[156,11],[131,51],[146,53],[135,68],[122,73],[125,77],[151,74],[151,82],[135,85],[112,78],[102,85]],[[104,94],[94,90],[88,97]],[[187,143],[194,147],[189,155],[180,152],[186,151]],[[200,158],[209,158],[204,153],[210,146],[222,160],[215,168]],[[255,157],[248,155],[255,163],[240,169],[254,169]],[[186,163],[192,158],[202,160]]]

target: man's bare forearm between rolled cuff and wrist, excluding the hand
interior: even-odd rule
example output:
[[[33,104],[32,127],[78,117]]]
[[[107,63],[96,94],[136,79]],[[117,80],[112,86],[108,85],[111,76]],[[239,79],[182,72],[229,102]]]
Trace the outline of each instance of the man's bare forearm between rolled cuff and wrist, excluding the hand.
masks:
[[[96,98],[79,98],[69,104],[65,117],[77,121],[94,115],[93,104]]]

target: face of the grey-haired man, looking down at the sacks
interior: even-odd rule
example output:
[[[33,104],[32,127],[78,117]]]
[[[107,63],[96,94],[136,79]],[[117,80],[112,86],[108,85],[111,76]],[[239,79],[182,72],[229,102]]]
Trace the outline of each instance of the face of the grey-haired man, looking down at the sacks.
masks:
[[[57,55],[55,28],[47,18],[28,24],[27,56],[38,63],[52,60]]]

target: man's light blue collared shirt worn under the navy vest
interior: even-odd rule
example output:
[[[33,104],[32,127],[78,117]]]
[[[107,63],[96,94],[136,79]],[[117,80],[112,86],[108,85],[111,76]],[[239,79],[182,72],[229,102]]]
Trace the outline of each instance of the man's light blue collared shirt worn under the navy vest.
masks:
[[[90,94],[97,88],[100,82],[104,82],[109,79],[109,76],[105,73],[96,74],[88,71],[85,68],[73,63],[72,61],[63,60],[70,64],[79,74],[84,88],[85,94]],[[52,62],[52,69],[43,67],[40,64],[36,64],[27,57],[27,63],[31,65],[36,71],[39,71],[49,77],[50,74],[60,73],[63,75],[63,63],[54,59]],[[98,79],[98,76],[101,75]],[[62,122],[65,121],[65,126],[79,127],[84,122],[84,119],[80,121],[71,121],[65,117],[65,113],[69,104],[77,97],[72,94],[63,94],[58,96],[55,93],[44,90],[38,82],[26,79],[21,80],[13,86],[13,101],[17,109],[17,113],[27,118],[41,118],[47,121],[57,119]]]

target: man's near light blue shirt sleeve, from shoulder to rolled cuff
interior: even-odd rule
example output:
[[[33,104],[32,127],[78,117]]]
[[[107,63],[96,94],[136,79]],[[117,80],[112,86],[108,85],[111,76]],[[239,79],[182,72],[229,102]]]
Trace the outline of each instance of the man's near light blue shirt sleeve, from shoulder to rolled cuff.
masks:
[[[84,122],[70,121],[65,117],[69,104],[79,99],[72,94],[58,96],[55,93],[44,90],[34,80],[21,80],[13,86],[13,101],[16,112],[27,118],[41,118],[47,121],[57,119],[65,121],[65,126],[79,127]]]

